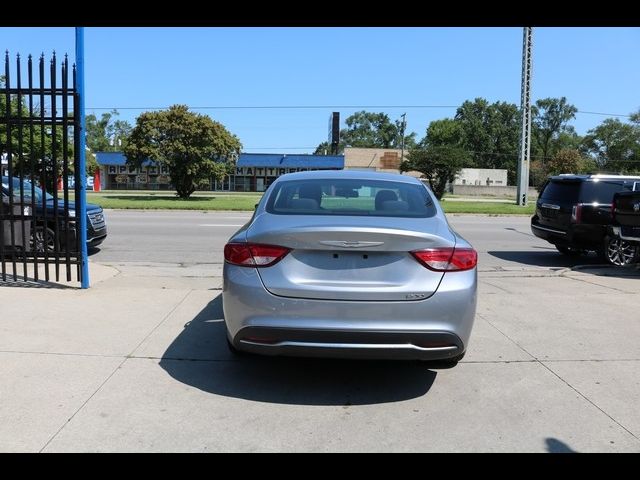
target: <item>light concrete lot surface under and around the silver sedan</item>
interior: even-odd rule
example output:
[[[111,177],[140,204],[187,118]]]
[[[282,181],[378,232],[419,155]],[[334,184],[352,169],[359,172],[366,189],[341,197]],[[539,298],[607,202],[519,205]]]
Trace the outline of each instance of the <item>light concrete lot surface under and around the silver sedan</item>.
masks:
[[[9,283],[0,451],[639,452],[639,273],[481,272],[449,370],[232,357],[216,264]]]

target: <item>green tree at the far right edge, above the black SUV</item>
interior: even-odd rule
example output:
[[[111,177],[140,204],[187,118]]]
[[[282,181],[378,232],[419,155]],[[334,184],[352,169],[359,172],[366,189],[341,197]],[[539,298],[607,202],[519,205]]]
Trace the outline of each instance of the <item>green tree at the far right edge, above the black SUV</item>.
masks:
[[[601,169],[637,172],[640,170],[640,124],[607,118],[587,132],[583,148]]]

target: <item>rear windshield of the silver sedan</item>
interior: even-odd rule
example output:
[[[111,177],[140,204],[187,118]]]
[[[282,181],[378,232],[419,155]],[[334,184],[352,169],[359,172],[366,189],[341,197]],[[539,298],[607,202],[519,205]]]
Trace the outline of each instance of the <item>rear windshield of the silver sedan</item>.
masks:
[[[380,180],[290,180],[272,185],[267,212],[279,215],[432,217],[436,208],[422,185]]]

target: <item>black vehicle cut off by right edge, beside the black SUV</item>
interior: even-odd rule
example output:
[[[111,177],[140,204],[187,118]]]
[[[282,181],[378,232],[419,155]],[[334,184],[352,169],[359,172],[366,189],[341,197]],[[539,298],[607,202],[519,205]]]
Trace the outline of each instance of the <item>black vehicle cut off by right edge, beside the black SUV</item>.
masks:
[[[613,225],[610,227],[609,256],[619,264],[640,259],[640,184],[637,191],[616,193],[611,205]]]

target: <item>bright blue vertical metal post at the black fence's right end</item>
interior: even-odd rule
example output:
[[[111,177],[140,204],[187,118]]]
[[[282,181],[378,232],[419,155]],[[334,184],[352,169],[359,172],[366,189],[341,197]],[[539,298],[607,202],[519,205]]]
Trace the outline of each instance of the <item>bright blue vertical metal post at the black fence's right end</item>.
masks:
[[[78,169],[80,170],[80,211],[77,212],[77,226],[80,230],[80,261],[82,262],[82,288],[89,288],[89,255],[87,254],[87,168],[85,158],[85,121],[84,121],[84,27],[76,27],[76,76],[78,86],[78,106],[80,108],[79,129],[80,150]]]

